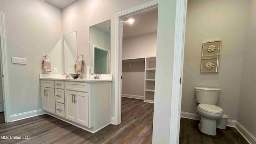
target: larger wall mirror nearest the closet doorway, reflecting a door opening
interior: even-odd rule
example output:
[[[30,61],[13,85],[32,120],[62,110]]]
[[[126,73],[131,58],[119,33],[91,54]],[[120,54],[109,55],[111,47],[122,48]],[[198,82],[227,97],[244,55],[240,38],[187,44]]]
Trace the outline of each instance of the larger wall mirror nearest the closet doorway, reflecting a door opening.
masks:
[[[110,20],[90,26],[90,74],[110,74]]]

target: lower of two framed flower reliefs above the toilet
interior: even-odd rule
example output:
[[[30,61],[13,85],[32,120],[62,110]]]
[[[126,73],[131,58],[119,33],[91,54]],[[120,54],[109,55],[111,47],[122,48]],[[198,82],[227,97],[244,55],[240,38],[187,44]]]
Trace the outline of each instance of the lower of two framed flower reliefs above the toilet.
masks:
[[[201,72],[219,72],[220,58],[202,58]]]

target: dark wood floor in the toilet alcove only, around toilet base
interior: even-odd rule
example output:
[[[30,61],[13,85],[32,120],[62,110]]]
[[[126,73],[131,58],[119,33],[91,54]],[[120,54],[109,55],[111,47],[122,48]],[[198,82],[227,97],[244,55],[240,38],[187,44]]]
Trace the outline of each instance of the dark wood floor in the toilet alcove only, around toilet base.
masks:
[[[217,136],[209,136],[200,132],[199,122],[181,118],[180,144],[248,144],[235,128],[227,127],[226,130],[217,128]]]

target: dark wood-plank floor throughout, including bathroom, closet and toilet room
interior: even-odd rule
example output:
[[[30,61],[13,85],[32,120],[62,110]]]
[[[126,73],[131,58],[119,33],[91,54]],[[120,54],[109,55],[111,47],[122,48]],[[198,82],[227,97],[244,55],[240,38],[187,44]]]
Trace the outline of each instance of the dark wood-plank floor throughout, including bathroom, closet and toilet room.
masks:
[[[122,98],[122,123],[110,124],[95,134],[46,114],[0,123],[0,136],[30,136],[29,140],[0,139],[0,144],[151,144],[153,106],[143,100]],[[218,129],[217,136],[208,136],[200,132],[198,123],[181,119],[180,144],[248,144],[235,128]]]

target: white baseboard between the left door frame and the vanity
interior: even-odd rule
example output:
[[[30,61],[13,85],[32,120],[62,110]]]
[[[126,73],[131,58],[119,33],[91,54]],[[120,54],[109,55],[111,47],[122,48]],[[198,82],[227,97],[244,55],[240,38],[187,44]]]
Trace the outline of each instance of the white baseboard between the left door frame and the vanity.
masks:
[[[46,112],[44,112],[42,109],[40,110],[33,110],[30,112],[22,112],[20,114],[12,114],[11,115],[11,122],[17,121],[17,120],[23,120],[26,118],[31,118],[34,116],[40,116],[42,114],[46,114]]]

